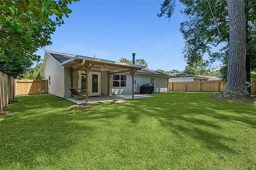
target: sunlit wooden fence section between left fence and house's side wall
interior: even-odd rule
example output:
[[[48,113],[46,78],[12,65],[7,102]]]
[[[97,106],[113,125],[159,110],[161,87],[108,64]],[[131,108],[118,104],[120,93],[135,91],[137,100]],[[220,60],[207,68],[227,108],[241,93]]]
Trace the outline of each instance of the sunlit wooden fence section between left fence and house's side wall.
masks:
[[[48,80],[15,80],[16,95],[40,94],[42,90],[48,93]]]

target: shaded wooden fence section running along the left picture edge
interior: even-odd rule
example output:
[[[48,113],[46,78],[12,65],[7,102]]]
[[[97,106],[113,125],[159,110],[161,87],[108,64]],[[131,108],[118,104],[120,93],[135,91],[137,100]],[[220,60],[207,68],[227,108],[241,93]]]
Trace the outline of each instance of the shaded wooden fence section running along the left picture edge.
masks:
[[[14,78],[0,71],[0,112],[14,98]]]

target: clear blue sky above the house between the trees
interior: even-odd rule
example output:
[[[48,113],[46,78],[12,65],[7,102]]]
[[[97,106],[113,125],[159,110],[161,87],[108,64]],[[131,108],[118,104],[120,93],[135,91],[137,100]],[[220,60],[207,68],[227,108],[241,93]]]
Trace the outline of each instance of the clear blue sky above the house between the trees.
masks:
[[[158,0],[104,0],[72,2],[72,13],[64,18],[45,50],[119,61],[121,57],[144,59],[148,68],[183,71],[184,40],[178,3],[170,20],[159,18]],[[43,58],[44,50],[37,52]]]

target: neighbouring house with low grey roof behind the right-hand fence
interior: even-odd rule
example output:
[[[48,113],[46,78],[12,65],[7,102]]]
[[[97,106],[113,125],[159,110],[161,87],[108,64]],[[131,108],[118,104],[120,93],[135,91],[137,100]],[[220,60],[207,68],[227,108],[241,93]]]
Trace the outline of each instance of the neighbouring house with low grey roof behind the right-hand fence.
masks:
[[[169,82],[184,82],[184,81],[206,81],[207,78],[197,75],[189,75],[186,73],[171,73],[169,74]]]

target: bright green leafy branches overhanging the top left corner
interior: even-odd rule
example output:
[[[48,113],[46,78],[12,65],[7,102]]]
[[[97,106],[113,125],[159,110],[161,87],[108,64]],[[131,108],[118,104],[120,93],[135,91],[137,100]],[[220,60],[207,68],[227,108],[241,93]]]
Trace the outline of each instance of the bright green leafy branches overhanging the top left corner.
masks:
[[[0,0],[0,61],[10,60],[8,51],[14,50],[39,61],[34,52],[52,44],[50,35],[72,12],[67,7],[72,1],[78,0]]]

